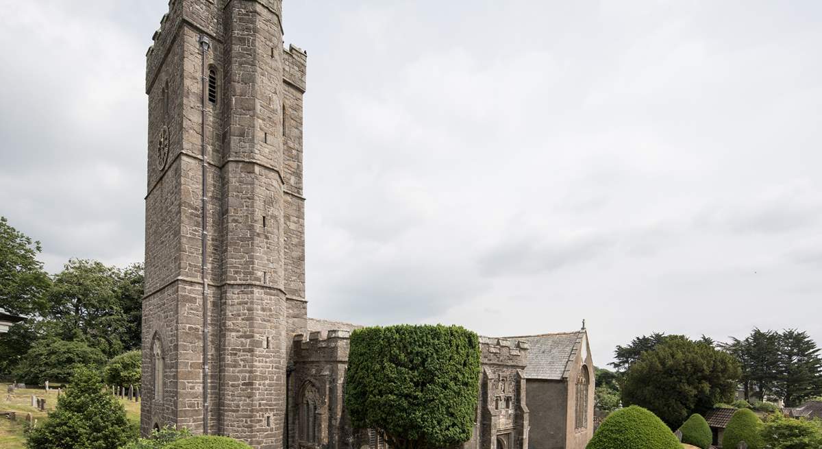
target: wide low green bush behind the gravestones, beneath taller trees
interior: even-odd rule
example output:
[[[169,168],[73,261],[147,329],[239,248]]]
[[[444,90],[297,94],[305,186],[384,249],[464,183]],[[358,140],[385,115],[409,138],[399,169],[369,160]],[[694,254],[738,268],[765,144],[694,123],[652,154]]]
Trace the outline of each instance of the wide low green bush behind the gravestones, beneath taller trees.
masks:
[[[25,353],[15,370],[18,381],[42,385],[45,381],[66,382],[76,368],[99,368],[105,356],[82,341],[38,340]]]

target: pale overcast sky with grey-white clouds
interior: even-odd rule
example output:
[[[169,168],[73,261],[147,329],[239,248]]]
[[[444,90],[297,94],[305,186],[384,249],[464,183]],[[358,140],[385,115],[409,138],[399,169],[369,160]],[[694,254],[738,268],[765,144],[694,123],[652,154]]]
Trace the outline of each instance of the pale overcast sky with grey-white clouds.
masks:
[[[0,0],[0,215],[143,259],[163,0]],[[822,343],[822,2],[286,0],[309,314]]]

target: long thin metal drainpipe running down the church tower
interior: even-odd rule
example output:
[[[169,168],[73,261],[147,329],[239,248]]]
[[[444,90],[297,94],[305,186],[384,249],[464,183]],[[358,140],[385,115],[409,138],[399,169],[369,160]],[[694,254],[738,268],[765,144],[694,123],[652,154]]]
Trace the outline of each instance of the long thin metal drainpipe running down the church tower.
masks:
[[[201,120],[200,120],[200,144],[201,144],[201,155],[202,155],[202,262],[201,262],[201,273],[202,273],[202,281],[203,281],[203,435],[209,434],[208,428],[208,417],[209,417],[209,403],[208,403],[208,384],[209,384],[209,360],[208,360],[208,260],[207,260],[207,249],[208,249],[208,184],[206,179],[206,174],[208,170],[208,153],[205,151],[205,95],[208,78],[205,76],[205,58],[208,56],[208,50],[210,47],[210,40],[205,35],[200,35],[200,38],[197,39],[200,43],[200,49],[202,50],[202,76],[201,76],[201,91],[200,91],[200,112],[201,112]]]

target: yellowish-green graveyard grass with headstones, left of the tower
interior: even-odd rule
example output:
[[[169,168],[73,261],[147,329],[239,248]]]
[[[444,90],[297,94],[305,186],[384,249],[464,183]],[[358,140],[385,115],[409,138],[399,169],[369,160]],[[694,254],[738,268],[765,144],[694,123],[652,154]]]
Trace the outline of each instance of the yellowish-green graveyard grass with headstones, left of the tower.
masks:
[[[46,398],[46,410],[53,411],[57,405],[57,391],[46,391],[43,388],[17,390],[12,395],[11,400],[7,396],[7,383],[0,383],[0,412],[14,410],[17,412],[17,420],[12,422],[6,418],[0,418],[0,447],[3,449],[23,449],[25,448],[25,437],[23,437],[23,425],[25,424],[25,414],[28,412],[32,418],[37,419],[37,424],[48,419],[46,412],[37,410],[31,406],[31,395]],[[140,403],[120,400],[126,407],[128,420],[140,425]]]

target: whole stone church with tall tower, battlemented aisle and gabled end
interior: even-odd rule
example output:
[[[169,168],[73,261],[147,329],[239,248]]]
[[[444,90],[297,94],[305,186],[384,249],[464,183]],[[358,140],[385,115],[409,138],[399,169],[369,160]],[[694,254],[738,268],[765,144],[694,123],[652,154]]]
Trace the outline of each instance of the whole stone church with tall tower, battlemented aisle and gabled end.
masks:
[[[257,449],[386,449],[349,424],[350,332],[308,317],[302,96],[281,0],[171,0],[146,53],[141,433]],[[583,449],[587,331],[482,337],[465,449]],[[527,394],[526,394],[527,393]]]

